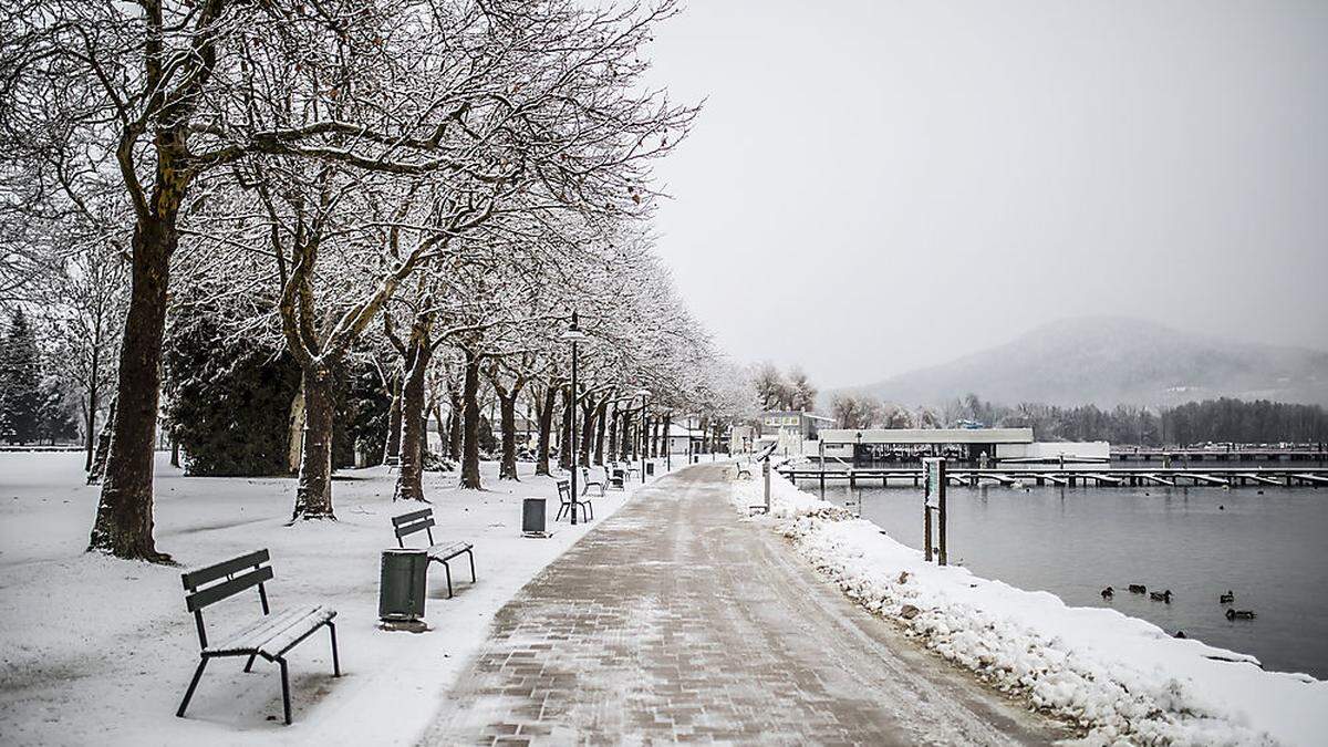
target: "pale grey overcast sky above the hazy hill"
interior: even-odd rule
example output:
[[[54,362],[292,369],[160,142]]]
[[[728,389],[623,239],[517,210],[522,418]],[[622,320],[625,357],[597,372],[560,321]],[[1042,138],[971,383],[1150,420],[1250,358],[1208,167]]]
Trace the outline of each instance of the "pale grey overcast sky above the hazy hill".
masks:
[[[660,251],[737,360],[858,384],[1085,314],[1328,348],[1328,1],[692,0],[651,57],[708,98]]]

